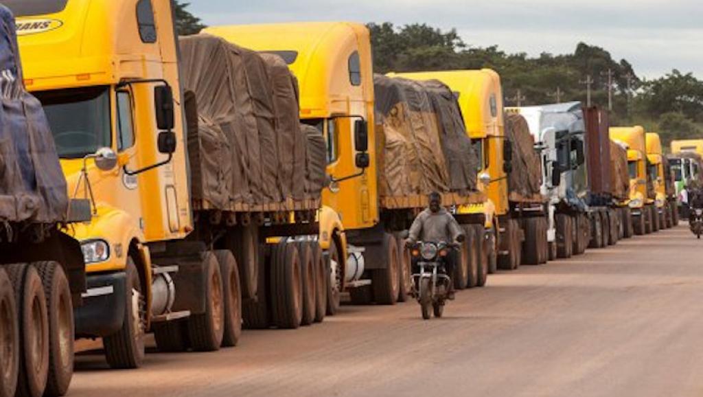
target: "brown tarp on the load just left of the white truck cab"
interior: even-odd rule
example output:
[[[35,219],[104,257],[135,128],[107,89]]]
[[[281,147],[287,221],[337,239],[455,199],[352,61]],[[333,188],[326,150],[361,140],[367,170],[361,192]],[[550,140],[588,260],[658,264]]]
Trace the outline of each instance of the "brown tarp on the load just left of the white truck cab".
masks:
[[[505,137],[512,144],[512,172],[508,175],[510,193],[524,198],[539,194],[542,186],[542,165],[534,150],[534,138],[522,115],[505,115]]]

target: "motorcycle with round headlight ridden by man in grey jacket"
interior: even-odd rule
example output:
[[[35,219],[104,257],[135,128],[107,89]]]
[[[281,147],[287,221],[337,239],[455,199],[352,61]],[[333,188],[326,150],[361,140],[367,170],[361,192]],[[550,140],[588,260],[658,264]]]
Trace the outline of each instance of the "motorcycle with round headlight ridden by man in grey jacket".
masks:
[[[444,262],[454,247],[444,241],[432,243],[420,241],[411,247],[411,256],[417,260],[420,272],[413,274],[413,296],[420,303],[423,319],[441,317],[444,303],[449,298],[451,277],[446,274]]]

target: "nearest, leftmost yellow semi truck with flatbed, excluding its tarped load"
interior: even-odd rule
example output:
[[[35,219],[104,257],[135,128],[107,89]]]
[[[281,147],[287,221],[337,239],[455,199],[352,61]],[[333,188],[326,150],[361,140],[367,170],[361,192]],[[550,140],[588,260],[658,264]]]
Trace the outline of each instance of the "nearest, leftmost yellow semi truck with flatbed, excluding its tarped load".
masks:
[[[193,96],[179,78],[174,3],[16,3],[25,83],[44,105],[69,191],[93,203],[75,237],[99,293],[76,310],[76,335],[102,337],[110,366],[133,368],[149,331],[163,351],[212,351],[237,343],[243,308],[250,324],[298,327],[311,294],[303,269],[324,270],[319,200],[193,199],[186,125],[198,125],[198,111],[194,101],[183,111]]]

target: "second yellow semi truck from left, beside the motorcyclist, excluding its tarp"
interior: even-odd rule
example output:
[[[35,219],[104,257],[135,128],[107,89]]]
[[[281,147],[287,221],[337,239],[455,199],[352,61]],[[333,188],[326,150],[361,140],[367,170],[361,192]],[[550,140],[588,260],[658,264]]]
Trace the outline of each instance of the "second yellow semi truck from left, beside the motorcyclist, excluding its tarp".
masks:
[[[352,301],[393,304],[410,289],[410,258],[403,249],[402,231],[426,205],[424,195],[381,196],[378,189],[380,134],[369,127],[368,157],[355,137],[361,125],[375,125],[373,67],[368,29],[356,23],[282,23],[209,27],[205,31],[262,53],[276,53],[289,65],[300,87],[300,118],[324,132],[328,141],[328,170],[333,183],[323,203],[342,218],[350,256],[334,270],[335,289],[349,291]],[[359,160],[368,160],[361,168]],[[444,194],[446,206],[479,203],[482,194]],[[473,236],[483,216],[466,215]],[[479,227],[482,234],[483,227]],[[338,239],[338,237],[335,237]],[[465,248],[460,277],[466,279],[471,260],[477,266],[474,284],[485,284],[487,256],[477,247]],[[344,258],[340,256],[340,258]],[[472,259],[475,258],[475,259]],[[484,258],[484,260],[481,260]],[[370,282],[370,285],[368,283]]]

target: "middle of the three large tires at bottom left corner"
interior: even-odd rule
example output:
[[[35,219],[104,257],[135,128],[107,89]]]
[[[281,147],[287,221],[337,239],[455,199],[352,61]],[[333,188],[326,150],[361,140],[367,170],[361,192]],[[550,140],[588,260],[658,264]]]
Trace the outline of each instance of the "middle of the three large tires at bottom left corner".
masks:
[[[5,267],[15,287],[20,320],[20,361],[16,396],[39,397],[49,377],[49,316],[39,272],[27,264]],[[4,352],[3,352],[4,353]]]

